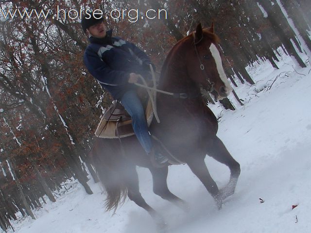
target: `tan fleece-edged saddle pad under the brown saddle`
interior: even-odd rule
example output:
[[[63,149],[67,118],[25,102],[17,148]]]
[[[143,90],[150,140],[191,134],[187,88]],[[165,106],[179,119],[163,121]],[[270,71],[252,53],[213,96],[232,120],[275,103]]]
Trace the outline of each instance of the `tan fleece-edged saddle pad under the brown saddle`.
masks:
[[[151,100],[148,101],[145,116],[149,127],[154,116]],[[110,139],[119,138],[118,133],[120,138],[135,135],[132,127],[132,120],[108,121],[103,116],[95,131],[97,137]]]

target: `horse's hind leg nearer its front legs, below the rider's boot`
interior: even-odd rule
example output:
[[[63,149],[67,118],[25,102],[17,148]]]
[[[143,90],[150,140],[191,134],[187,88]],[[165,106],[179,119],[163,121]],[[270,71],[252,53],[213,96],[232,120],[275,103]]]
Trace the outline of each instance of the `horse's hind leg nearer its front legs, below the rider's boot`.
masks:
[[[168,167],[162,168],[149,168],[153,178],[153,189],[154,193],[164,200],[168,200],[173,204],[177,205],[184,211],[188,211],[189,207],[184,200],[181,200],[177,196],[175,196],[169,190],[167,186],[167,174],[168,174]]]

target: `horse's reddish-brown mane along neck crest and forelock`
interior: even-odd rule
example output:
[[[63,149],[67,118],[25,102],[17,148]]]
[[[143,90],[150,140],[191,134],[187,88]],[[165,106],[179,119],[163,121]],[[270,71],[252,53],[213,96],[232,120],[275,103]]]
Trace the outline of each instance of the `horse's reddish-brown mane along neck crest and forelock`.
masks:
[[[164,60],[162,69],[161,69],[161,76],[163,74],[163,70],[166,70],[167,68],[167,64],[168,62],[171,60],[171,58],[173,57],[173,55],[175,54],[176,50],[184,43],[188,42],[188,41],[193,41],[193,33],[190,33],[189,35],[185,36],[184,38],[180,39],[179,41],[177,41],[177,43],[173,46],[173,48],[169,51],[168,55],[166,56],[166,59]],[[214,44],[218,44],[220,42],[219,37],[214,34],[211,33],[208,28],[203,29],[203,36],[204,38],[208,38],[212,43]],[[200,43],[198,43],[200,44]]]

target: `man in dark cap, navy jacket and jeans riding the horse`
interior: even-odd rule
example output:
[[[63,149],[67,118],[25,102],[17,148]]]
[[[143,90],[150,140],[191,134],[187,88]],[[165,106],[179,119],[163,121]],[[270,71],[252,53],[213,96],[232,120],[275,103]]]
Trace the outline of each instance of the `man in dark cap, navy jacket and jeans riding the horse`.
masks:
[[[85,15],[81,21],[89,45],[84,53],[84,63],[97,81],[115,100],[121,104],[132,117],[133,130],[150,156],[155,167],[167,165],[168,159],[157,152],[151,141],[144,110],[136,89],[139,75],[150,77],[151,63],[149,57],[133,43],[120,37],[113,37],[112,30],[106,31],[104,19]]]

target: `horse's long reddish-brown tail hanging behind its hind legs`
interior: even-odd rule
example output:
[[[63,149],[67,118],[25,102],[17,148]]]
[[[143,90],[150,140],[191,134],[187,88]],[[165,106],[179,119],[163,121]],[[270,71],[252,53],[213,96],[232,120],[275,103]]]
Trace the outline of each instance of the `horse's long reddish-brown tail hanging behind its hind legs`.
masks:
[[[116,211],[127,197],[126,177],[128,176],[126,167],[128,165],[125,164],[126,161],[121,152],[120,154],[117,152],[119,148],[114,148],[114,150],[113,143],[109,143],[109,146],[106,147],[104,140],[112,142],[113,139],[97,139],[90,156],[92,165],[107,196],[105,200],[106,211]]]

